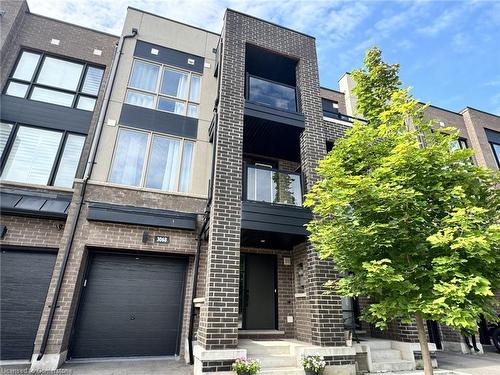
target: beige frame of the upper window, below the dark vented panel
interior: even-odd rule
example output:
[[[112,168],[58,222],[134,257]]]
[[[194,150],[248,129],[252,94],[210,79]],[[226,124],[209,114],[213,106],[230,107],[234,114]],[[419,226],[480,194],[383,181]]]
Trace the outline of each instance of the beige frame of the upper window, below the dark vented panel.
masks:
[[[140,62],[142,62],[144,64],[150,64],[150,65],[159,66],[160,70],[158,72],[158,77],[156,77],[155,91],[149,91],[149,90],[146,90],[146,89],[140,89],[140,88],[136,88],[136,87],[130,86],[130,80],[132,78],[132,73],[134,72],[134,66],[135,66],[136,61],[140,61]],[[187,90],[187,97],[186,97],[186,99],[180,99],[180,98],[178,98],[176,96],[167,95],[167,94],[164,94],[164,93],[161,92],[161,84],[163,82],[163,75],[165,74],[165,68],[173,70],[175,72],[180,72],[180,73],[187,74],[187,76],[188,76],[188,90]],[[199,101],[198,102],[190,100],[190,97],[191,97],[191,78],[193,76],[199,77],[199,79],[200,79],[200,92],[199,92]],[[199,73],[187,70],[187,69],[182,69],[182,68],[179,68],[179,67],[176,67],[176,66],[172,66],[172,65],[168,65],[168,64],[163,64],[163,63],[159,63],[159,62],[155,62],[155,61],[150,61],[150,60],[147,60],[147,59],[142,58],[142,57],[134,56],[133,61],[132,61],[132,67],[130,69],[129,76],[128,76],[128,79],[127,79],[127,88],[125,90],[125,95],[123,97],[123,103],[128,104],[128,105],[133,105],[133,106],[136,106],[136,107],[153,109],[155,111],[171,113],[171,114],[178,115],[178,116],[185,116],[185,117],[189,117],[189,118],[199,119],[199,114],[200,114],[199,107],[200,107],[200,104],[201,104],[201,92],[202,92],[201,87],[202,87],[202,84],[203,84],[203,74],[199,74]],[[143,107],[143,106],[140,106],[140,105],[128,103],[127,102],[127,95],[128,95],[129,92],[137,92],[139,94],[144,94],[144,95],[150,95],[150,96],[152,96],[153,97],[153,107],[152,108],[151,107]],[[165,98],[165,99],[172,100],[174,102],[183,103],[184,104],[184,113],[183,114],[178,114],[178,113],[175,113],[175,112],[165,111],[163,109],[158,108],[158,105],[160,103],[160,98]],[[194,105],[196,105],[198,107],[198,117],[190,117],[190,116],[188,116],[188,112],[189,112],[188,107],[189,107],[190,104],[194,104]]]

